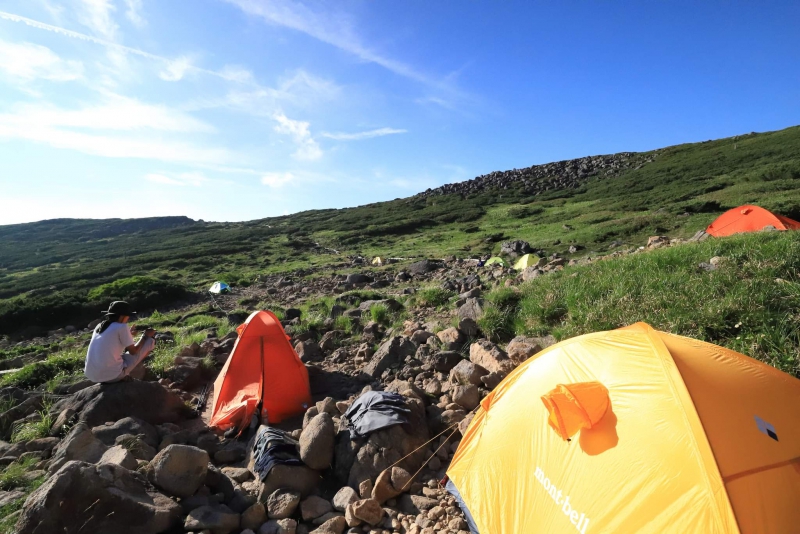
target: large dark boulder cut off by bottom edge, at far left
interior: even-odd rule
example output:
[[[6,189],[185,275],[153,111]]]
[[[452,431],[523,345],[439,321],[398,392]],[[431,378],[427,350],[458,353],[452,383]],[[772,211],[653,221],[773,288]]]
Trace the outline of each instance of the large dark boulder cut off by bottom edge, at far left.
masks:
[[[145,477],[115,464],[64,464],[25,501],[18,534],[156,534],[180,520],[181,507],[152,491]]]

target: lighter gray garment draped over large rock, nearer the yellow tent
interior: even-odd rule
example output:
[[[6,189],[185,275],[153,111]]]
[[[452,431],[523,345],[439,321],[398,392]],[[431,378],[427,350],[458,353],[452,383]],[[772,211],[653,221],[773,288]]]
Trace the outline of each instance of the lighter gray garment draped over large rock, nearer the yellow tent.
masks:
[[[344,416],[352,437],[364,438],[376,430],[407,423],[409,413],[402,395],[368,391],[353,401]]]

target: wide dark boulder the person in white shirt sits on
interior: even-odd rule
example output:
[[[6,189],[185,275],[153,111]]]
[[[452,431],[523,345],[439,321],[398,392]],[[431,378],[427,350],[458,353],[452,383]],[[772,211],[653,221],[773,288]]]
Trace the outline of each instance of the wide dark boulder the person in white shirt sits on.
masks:
[[[131,380],[95,384],[57,402],[52,413],[73,410],[90,428],[134,417],[151,425],[174,423],[188,415],[183,399],[158,382]]]

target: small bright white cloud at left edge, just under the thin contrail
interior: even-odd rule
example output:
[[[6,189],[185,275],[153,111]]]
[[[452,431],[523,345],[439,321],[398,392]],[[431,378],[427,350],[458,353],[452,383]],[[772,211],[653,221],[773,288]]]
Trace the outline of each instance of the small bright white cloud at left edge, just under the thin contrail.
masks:
[[[0,71],[23,81],[71,81],[83,76],[83,63],[63,60],[46,46],[0,39]]]

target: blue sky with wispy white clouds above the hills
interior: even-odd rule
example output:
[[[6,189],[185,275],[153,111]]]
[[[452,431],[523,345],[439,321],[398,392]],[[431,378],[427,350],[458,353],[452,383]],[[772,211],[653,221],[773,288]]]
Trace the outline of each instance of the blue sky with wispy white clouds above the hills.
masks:
[[[0,224],[235,221],[800,123],[797,2],[4,0]]]

